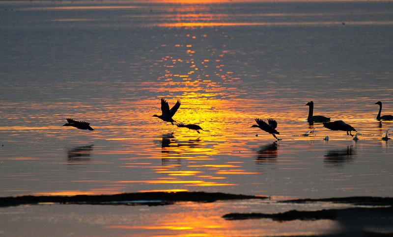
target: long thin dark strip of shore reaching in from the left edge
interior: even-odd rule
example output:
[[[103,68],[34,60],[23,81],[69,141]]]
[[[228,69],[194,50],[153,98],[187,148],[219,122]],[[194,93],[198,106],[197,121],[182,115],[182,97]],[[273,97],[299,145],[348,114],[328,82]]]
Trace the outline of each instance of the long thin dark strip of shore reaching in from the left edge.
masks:
[[[112,195],[75,195],[75,196],[17,196],[0,197],[0,207],[28,204],[57,203],[85,205],[170,205],[175,202],[215,202],[218,200],[265,199],[252,195],[208,193],[208,192],[139,192]]]

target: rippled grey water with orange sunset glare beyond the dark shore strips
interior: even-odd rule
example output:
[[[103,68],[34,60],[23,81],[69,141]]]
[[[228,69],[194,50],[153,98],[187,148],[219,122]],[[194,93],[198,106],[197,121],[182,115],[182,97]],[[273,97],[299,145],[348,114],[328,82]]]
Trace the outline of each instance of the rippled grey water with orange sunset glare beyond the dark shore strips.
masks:
[[[0,196],[393,195],[392,2],[0,1],[0,23]],[[310,100],[363,136],[309,126]]]

